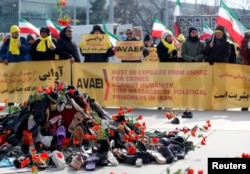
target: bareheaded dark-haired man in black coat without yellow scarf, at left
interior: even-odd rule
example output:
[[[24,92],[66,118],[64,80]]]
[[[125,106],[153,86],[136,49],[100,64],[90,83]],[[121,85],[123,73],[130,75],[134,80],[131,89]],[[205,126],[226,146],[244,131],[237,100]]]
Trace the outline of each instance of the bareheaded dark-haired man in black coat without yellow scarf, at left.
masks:
[[[57,53],[60,60],[70,60],[80,62],[80,56],[77,51],[76,43],[72,41],[72,28],[67,26],[60,32],[60,38],[56,43]]]

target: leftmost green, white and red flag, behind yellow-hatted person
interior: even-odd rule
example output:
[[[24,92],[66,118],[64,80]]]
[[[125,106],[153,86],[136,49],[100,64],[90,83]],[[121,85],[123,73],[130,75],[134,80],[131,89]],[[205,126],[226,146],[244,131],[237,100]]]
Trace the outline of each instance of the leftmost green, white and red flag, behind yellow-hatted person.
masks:
[[[19,19],[19,28],[20,33],[35,34],[36,36],[40,36],[40,31],[38,30],[38,28],[36,28],[33,24],[23,18]]]

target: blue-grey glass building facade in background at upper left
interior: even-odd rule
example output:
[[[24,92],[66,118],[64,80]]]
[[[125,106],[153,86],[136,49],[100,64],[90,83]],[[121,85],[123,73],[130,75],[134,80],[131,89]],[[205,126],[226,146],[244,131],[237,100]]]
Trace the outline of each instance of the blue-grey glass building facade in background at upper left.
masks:
[[[57,20],[57,0],[1,0],[0,1],[0,32],[9,32],[11,25],[18,25],[19,17],[37,27],[45,26],[46,15]],[[86,11],[86,1],[70,0],[64,10],[73,19],[77,14]]]

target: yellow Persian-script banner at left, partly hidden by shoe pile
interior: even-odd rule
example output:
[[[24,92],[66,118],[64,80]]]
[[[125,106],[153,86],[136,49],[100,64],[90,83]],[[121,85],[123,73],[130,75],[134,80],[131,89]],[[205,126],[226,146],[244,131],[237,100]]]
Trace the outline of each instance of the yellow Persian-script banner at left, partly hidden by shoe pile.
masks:
[[[70,83],[69,61],[36,61],[0,64],[1,101],[21,102],[37,87],[51,86],[55,80]]]

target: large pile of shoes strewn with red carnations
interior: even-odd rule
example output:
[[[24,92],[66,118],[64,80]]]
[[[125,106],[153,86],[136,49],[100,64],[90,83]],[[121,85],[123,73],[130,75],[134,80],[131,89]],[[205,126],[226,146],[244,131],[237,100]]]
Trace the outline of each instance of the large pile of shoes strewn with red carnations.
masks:
[[[45,168],[60,170],[66,164],[76,170],[95,170],[119,163],[169,164],[185,158],[192,142],[187,144],[177,132],[147,134],[141,116],[131,121],[129,112],[120,107],[111,117],[95,99],[64,82],[38,88],[26,105],[0,118],[0,163],[6,160],[3,157],[14,157],[20,168],[22,161],[28,161],[31,147],[38,154],[48,152],[51,163]],[[27,135],[32,140],[24,143]],[[152,138],[159,141],[152,143]]]

